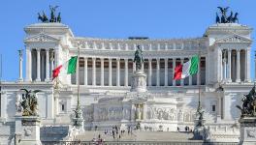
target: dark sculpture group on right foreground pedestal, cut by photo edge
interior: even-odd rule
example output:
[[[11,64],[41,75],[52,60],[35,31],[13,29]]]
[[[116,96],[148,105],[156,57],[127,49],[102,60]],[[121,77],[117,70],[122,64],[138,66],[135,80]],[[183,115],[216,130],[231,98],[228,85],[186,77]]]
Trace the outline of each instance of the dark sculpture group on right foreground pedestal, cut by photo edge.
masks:
[[[240,117],[256,117],[256,92],[255,84],[249,94],[244,95],[241,99],[242,105],[237,105],[241,111]]]

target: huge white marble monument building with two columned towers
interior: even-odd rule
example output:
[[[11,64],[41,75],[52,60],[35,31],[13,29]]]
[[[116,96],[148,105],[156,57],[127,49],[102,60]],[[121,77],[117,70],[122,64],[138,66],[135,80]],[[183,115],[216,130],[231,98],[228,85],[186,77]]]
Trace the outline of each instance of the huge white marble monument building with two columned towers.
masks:
[[[239,129],[232,128],[240,117],[236,105],[253,85],[252,28],[236,23],[214,24],[202,38],[167,40],[76,37],[61,23],[36,23],[24,30],[26,66],[22,67],[20,57],[18,80],[0,84],[0,137],[10,140],[15,133],[16,98],[22,95],[21,88],[43,91],[38,93],[43,126],[71,125],[80,82],[85,130],[135,126],[138,121],[146,131],[176,131],[177,127],[182,131],[185,126],[191,129],[200,90],[211,137],[238,139]],[[60,73],[58,90],[54,90],[51,71],[78,55],[78,42],[80,78]],[[147,75],[147,92],[139,95],[143,99],[130,92],[137,44],[144,50],[143,70]],[[200,74],[173,80],[176,65],[198,53]]]

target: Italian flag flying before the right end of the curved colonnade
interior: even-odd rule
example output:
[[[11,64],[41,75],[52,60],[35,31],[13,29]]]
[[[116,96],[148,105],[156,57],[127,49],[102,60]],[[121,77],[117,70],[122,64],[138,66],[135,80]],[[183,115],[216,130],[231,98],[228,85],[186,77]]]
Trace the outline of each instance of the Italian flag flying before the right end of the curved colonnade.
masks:
[[[174,79],[177,80],[198,73],[198,62],[199,56],[195,55],[183,65],[176,66]]]

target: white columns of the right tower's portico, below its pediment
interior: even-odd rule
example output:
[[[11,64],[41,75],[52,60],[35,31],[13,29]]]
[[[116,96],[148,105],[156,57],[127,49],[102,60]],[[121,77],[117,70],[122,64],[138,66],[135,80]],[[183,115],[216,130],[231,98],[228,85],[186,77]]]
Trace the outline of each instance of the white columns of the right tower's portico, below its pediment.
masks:
[[[249,49],[223,49],[221,79],[227,82],[250,81]]]

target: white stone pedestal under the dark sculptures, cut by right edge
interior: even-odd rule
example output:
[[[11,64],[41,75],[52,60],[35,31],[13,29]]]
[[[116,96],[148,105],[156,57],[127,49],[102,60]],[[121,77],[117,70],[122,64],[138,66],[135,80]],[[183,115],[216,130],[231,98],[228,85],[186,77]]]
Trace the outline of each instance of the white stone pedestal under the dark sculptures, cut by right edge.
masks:
[[[240,144],[256,144],[256,117],[240,119]]]

